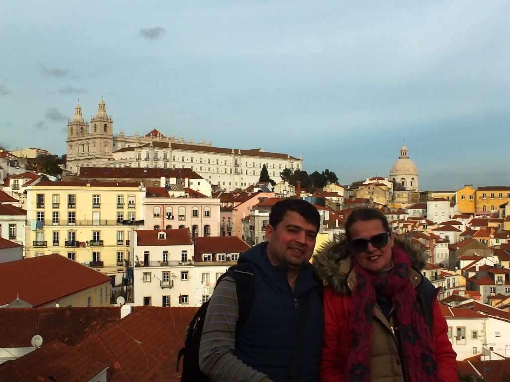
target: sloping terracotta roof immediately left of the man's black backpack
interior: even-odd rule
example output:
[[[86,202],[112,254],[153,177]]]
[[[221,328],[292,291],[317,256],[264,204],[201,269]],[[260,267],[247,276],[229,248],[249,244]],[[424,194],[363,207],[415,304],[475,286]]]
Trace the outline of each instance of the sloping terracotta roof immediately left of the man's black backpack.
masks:
[[[197,308],[135,308],[104,331],[75,346],[109,366],[109,382],[138,380],[177,382],[177,353]]]

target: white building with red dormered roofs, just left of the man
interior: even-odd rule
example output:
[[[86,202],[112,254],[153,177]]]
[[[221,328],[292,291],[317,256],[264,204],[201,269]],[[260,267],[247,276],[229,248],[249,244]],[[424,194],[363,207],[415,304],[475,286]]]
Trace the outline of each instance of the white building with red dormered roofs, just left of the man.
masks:
[[[249,249],[237,237],[195,240],[188,229],[134,232],[135,306],[199,307],[211,296],[220,275]]]

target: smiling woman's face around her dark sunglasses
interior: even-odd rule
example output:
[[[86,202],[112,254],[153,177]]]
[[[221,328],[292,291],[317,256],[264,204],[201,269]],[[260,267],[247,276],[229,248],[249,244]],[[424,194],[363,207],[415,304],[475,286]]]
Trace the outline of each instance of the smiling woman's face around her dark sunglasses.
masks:
[[[382,223],[377,220],[367,220],[354,223],[350,229],[350,239],[370,239],[378,233],[386,232]],[[360,266],[372,273],[377,273],[388,269],[391,265],[391,248],[393,247],[393,237],[390,236],[388,244],[382,248],[375,248],[372,243],[368,243],[365,251],[354,254],[354,259]]]

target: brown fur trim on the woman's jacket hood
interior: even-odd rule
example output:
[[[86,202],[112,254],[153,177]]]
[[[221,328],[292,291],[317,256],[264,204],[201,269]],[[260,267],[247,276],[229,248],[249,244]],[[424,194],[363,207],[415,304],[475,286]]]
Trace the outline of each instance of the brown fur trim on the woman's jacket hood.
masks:
[[[394,237],[394,240],[394,245],[404,250],[411,258],[411,266],[421,271],[428,259],[425,249],[413,245],[410,237]],[[314,256],[313,264],[317,277],[324,285],[329,285],[335,293],[347,293],[346,280],[352,262],[344,234],[335,235],[333,241],[323,244]]]

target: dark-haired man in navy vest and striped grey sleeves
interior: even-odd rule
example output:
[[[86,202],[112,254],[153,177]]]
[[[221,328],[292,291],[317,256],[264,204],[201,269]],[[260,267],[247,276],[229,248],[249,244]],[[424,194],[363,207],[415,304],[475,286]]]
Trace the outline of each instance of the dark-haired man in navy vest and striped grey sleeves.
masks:
[[[324,316],[321,286],[309,260],[319,226],[317,209],[304,200],[287,199],[273,206],[267,242],[238,261],[252,265],[254,283],[249,315],[240,328],[236,284],[231,277],[218,283],[199,356],[200,369],[212,380],[318,379]]]

